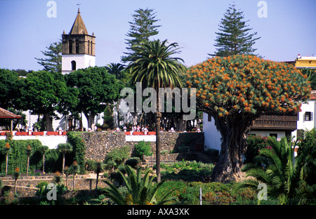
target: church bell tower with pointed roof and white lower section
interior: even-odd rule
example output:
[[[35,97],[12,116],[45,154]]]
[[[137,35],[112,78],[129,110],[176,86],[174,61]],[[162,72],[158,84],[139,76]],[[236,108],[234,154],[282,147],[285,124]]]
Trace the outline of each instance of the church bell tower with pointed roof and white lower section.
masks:
[[[96,36],[88,34],[78,13],[69,34],[62,33],[62,74],[96,65]]]

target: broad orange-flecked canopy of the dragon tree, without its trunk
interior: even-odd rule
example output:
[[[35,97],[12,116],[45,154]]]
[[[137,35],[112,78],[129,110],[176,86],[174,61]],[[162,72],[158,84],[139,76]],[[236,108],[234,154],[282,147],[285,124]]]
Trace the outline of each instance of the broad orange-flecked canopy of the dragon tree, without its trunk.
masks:
[[[219,117],[298,112],[310,95],[306,77],[294,66],[254,55],[211,58],[186,76],[187,86],[197,88],[197,104]]]

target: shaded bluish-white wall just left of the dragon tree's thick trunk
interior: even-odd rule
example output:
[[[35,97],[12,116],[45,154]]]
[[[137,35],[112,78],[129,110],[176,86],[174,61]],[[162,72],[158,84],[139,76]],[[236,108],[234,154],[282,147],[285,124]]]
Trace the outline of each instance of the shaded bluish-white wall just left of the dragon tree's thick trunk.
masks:
[[[220,152],[222,137],[215,126],[213,117],[208,121],[208,114],[203,112],[204,150],[215,149]]]

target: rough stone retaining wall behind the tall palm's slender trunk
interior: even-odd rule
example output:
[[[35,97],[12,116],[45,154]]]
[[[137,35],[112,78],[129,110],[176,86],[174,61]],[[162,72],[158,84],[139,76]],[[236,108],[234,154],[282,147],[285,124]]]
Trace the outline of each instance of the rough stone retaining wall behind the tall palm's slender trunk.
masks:
[[[126,141],[124,132],[84,132],[82,138],[86,145],[86,159],[100,161],[103,161],[106,154],[116,147],[128,145],[133,151],[134,145],[138,143]],[[183,152],[183,147],[186,147],[188,152],[202,151],[204,150],[204,133],[163,132],[160,133],[160,142],[162,144],[161,151]],[[150,142],[150,146],[153,154],[155,154],[156,142]],[[165,157],[175,159],[178,154],[168,154]]]

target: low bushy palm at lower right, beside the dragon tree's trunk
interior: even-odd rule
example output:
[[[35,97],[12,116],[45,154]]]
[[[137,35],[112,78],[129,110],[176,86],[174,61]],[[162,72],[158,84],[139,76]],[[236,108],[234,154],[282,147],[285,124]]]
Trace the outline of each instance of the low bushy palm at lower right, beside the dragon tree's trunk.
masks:
[[[269,138],[267,142],[270,148],[260,150],[259,155],[254,158],[256,164],[246,164],[242,169],[246,171],[246,177],[253,178],[246,178],[237,183],[235,190],[242,187],[256,189],[259,183],[265,183],[268,194],[277,198],[279,204],[289,204],[290,200],[301,199],[299,189],[303,180],[305,155],[294,157],[292,146],[295,144],[286,137],[281,140]]]

